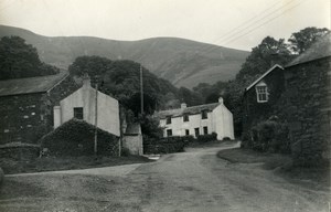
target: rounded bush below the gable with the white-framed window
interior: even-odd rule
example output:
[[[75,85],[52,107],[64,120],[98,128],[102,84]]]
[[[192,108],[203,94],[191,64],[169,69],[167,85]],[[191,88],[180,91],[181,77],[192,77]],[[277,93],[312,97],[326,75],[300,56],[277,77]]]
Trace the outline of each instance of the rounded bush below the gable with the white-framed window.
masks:
[[[275,117],[258,123],[243,138],[243,146],[258,151],[290,152],[288,126]]]

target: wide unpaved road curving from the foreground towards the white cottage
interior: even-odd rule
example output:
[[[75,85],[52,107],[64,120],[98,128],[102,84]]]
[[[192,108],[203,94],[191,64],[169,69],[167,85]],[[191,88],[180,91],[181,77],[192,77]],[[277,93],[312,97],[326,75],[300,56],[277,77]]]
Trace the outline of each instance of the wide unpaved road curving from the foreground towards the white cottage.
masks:
[[[216,157],[222,148],[228,147],[140,166],[7,177],[0,211],[328,211],[328,191],[290,183],[257,163],[229,163]]]

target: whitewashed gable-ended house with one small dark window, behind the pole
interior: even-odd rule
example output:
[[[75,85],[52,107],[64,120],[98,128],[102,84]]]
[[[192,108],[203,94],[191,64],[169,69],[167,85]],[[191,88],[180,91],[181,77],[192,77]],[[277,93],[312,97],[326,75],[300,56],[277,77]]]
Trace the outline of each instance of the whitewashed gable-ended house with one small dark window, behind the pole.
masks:
[[[62,99],[58,106],[54,106],[53,114],[54,128],[72,118],[77,118],[92,125],[96,124],[98,128],[115,136],[120,136],[118,100],[102,92],[96,92],[90,86],[88,77],[83,80],[83,86],[79,89]]]

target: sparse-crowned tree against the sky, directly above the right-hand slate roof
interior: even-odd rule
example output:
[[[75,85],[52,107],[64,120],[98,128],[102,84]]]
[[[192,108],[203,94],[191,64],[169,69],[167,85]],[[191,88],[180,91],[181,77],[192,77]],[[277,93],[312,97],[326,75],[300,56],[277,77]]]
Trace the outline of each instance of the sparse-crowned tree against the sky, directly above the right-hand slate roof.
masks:
[[[327,28],[306,28],[299,32],[291,34],[288,42],[295,54],[301,54],[310,47],[319,38],[325,35],[330,31]]]

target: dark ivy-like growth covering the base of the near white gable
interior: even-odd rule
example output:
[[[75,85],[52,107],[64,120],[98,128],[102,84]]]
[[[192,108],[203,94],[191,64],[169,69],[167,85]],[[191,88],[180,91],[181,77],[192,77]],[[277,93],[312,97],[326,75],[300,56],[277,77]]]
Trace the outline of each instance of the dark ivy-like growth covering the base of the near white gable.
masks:
[[[95,127],[84,120],[72,119],[41,139],[42,149],[50,156],[94,155]],[[102,129],[97,130],[98,155],[118,156],[118,138]]]

